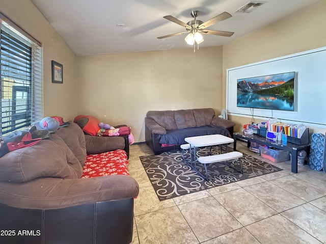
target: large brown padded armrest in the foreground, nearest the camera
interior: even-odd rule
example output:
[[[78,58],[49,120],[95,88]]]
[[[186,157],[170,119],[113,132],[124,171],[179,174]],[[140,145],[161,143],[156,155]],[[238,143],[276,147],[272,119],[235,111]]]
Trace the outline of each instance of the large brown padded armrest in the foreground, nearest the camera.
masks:
[[[126,175],[94,178],[38,178],[24,183],[0,182],[0,203],[17,208],[57,209],[137,197],[139,185]]]

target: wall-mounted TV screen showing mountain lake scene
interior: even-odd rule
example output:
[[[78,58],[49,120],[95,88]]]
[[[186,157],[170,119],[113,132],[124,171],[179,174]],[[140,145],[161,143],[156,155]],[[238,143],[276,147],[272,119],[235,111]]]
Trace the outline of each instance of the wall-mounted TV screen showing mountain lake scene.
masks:
[[[294,111],[295,72],[237,79],[237,107]]]

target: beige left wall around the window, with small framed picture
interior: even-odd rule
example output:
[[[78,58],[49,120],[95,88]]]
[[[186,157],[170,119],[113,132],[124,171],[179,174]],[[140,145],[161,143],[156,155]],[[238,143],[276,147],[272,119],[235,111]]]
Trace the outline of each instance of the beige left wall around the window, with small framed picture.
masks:
[[[43,112],[72,120],[76,115],[76,56],[30,0],[0,0],[0,11],[43,46]],[[51,60],[63,65],[63,84],[51,82]]]

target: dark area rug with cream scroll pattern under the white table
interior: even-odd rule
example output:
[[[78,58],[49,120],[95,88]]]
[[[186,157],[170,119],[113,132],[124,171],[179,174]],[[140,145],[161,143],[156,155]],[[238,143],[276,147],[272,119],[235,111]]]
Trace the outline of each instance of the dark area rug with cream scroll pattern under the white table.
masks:
[[[209,147],[200,149],[197,155],[204,156],[208,153]],[[219,153],[220,150],[212,149],[212,154]],[[189,154],[185,153],[185,156],[189,157]],[[243,156],[237,160],[228,161],[235,168],[239,168],[239,160],[241,160],[243,174],[230,168],[224,162],[217,162],[207,166],[209,178],[206,181],[183,162],[180,151],[140,156],[140,159],[160,201],[282,170],[243,153]],[[200,163],[197,163],[197,170],[205,175],[205,169]]]

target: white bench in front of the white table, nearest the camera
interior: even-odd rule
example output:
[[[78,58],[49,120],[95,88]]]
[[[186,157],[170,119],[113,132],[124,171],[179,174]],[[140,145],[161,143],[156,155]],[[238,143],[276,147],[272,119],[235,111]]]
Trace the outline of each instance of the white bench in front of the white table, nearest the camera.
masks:
[[[225,164],[227,166],[235,169],[236,171],[238,171],[238,172],[240,172],[242,174],[243,173],[243,167],[242,167],[241,160],[239,161],[240,169],[236,169],[236,168],[234,168],[233,166],[231,166],[231,165],[229,165],[227,163],[228,160],[237,159],[237,158],[242,157],[242,156],[243,156],[243,154],[241,152],[234,151],[234,152],[228,152],[228,153],[222,153],[222,154],[199,157],[198,161],[201,162],[202,164],[204,164],[204,166],[205,166],[206,180],[207,180],[208,172],[207,172],[206,165],[207,164],[212,164],[213,162],[225,162]]]

